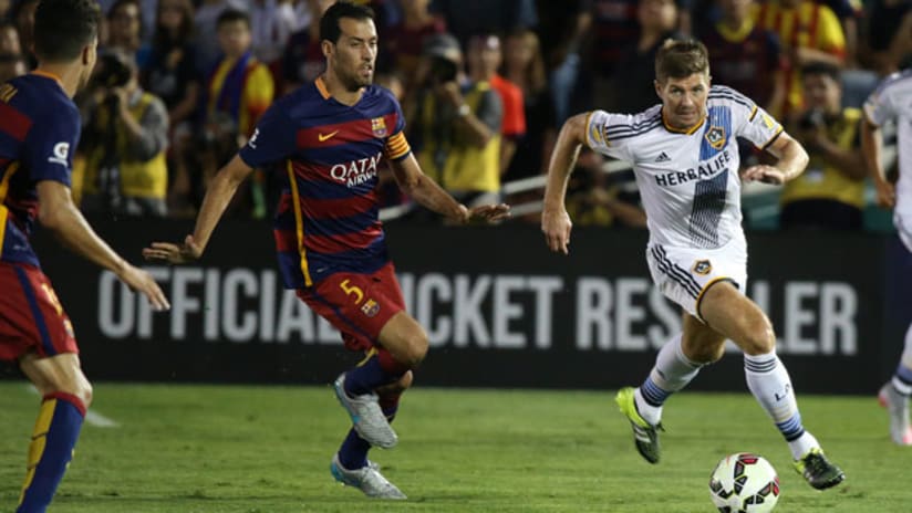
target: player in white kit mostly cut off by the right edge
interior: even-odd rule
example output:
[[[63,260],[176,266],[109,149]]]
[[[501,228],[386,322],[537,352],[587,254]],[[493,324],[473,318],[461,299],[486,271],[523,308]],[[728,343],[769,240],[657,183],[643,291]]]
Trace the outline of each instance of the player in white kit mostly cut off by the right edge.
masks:
[[[897,122],[900,178],[897,186],[883,176],[880,127]],[[864,103],[864,123],[861,124],[861,147],[868,171],[874,179],[878,202],[893,208],[893,223],[900,240],[912,251],[912,70],[893,74],[880,84]],[[890,412],[890,437],[900,446],[912,446],[909,427],[909,396],[912,395],[912,325],[905,332],[905,348],[892,379],[878,395],[880,404]]]

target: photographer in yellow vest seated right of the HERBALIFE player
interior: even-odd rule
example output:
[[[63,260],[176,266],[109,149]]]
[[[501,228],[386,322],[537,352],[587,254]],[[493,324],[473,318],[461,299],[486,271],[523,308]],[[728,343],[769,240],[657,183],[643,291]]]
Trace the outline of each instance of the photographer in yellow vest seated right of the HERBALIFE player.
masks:
[[[807,170],[783,188],[783,229],[861,230],[866,168],[861,111],[842,107],[840,70],[811,62],[801,69],[806,102],[789,129],[807,149]]]

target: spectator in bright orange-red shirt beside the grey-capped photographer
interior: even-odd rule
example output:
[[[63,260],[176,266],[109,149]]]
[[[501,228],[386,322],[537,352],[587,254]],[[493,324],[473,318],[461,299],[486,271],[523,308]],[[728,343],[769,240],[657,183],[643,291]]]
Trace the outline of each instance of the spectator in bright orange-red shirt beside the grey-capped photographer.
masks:
[[[516,154],[516,143],[526,135],[526,111],[522,90],[497,73],[504,62],[500,38],[495,34],[478,34],[468,41],[468,74],[475,83],[487,82],[500,96],[504,116],[500,123],[500,175]]]

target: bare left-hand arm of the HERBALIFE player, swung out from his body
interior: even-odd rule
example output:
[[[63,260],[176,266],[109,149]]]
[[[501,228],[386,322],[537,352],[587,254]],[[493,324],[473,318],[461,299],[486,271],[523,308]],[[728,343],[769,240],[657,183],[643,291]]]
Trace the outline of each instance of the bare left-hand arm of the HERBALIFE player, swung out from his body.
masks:
[[[573,227],[564,206],[567,182],[580,148],[585,143],[589,116],[590,113],[578,114],[563,123],[551,154],[551,163],[548,165],[545,205],[541,210],[541,231],[545,233],[548,248],[563,254],[569,253],[567,245],[570,243],[570,230]]]

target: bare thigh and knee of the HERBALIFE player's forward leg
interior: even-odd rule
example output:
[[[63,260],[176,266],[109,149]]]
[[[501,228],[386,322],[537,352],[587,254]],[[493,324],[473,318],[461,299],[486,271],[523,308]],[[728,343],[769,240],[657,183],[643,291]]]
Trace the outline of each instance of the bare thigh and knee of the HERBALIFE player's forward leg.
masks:
[[[766,314],[730,283],[709,287],[701,303],[703,321],[713,329],[730,338],[748,355],[773,350],[776,335]]]

